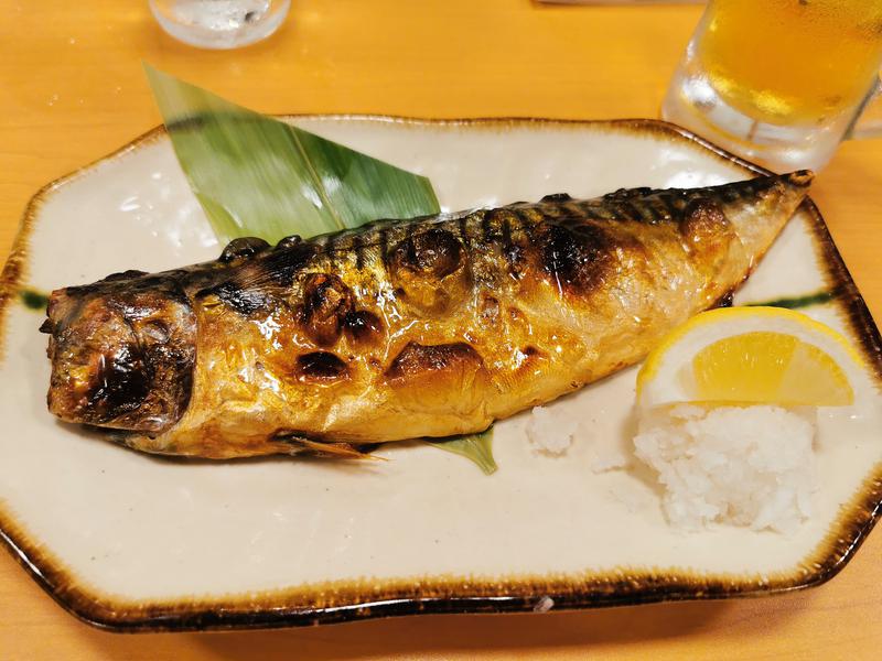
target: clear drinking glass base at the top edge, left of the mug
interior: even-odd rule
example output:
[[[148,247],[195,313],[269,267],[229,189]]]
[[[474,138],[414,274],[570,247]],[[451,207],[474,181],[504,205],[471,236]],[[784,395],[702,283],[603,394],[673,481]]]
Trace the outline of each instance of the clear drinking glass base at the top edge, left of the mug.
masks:
[[[266,39],[281,24],[290,0],[149,0],[162,29],[202,48],[236,48]]]

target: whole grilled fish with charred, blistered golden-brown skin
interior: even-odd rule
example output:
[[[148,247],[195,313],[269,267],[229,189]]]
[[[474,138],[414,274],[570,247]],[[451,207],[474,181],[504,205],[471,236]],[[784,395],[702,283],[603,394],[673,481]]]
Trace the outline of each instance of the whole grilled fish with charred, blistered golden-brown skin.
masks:
[[[57,290],[49,408],[209,458],[482,431],[717,305],[811,176],[237,239],[215,262]]]

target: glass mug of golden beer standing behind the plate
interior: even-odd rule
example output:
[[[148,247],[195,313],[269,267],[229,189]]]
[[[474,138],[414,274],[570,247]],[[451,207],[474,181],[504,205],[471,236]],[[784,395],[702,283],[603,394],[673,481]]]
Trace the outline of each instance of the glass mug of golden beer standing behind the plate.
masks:
[[[772,170],[817,170],[845,138],[882,134],[865,112],[880,64],[882,0],[709,0],[662,116]]]

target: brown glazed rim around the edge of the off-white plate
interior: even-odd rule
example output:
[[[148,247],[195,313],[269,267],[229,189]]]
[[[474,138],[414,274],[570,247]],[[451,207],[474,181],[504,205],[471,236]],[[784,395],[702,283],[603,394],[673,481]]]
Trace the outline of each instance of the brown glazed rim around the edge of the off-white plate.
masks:
[[[526,126],[607,127],[626,132],[648,131],[685,139],[717,158],[746,171],[770,171],[745,161],[676,124],[655,119],[579,120],[535,117],[412,118],[386,115],[284,115],[283,119],[361,120],[410,126]],[[155,127],[122,148],[61,176],[40,188],[29,201],[9,259],[0,274],[0,333],[6,311],[18,293],[26,268],[28,241],[40,206],[58,187],[85,175],[98,164],[120,158],[165,133]],[[803,207],[830,284],[836,290],[853,335],[876,377],[882,378],[882,337],[851,279],[815,204]],[[0,335],[0,342],[2,336]],[[2,344],[0,344],[2,360]],[[225,595],[214,599],[179,598],[168,602],[126,602],[82,585],[54,555],[41,550],[19,528],[0,502],[0,540],[36,583],[65,610],[83,621],[110,631],[191,631],[314,626],[379,617],[417,614],[517,613],[581,609],[686,599],[722,599],[779,594],[820,585],[832,578],[854,555],[882,513],[882,466],[872,468],[852,501],[842,508],[838,530],[790,574],[747,577],[741,574],[698,574],[687,568],[620,567],[579,575],[518,575],[513,577],[406,577],[400,579],[341,581],[272,590],[261,595]],[[418,585],[415,585],[418,583]],[[551,599],[549,602],[548,599]],[[306,603],[308,605],[303,605]]]

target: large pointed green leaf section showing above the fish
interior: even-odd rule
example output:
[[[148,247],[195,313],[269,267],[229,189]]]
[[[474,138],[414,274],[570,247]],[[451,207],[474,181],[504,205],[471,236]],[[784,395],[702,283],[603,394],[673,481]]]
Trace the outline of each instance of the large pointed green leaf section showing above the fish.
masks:
[[[144,68],[178,160],[222,240],[276,242],[440,212],[424,176]]]

